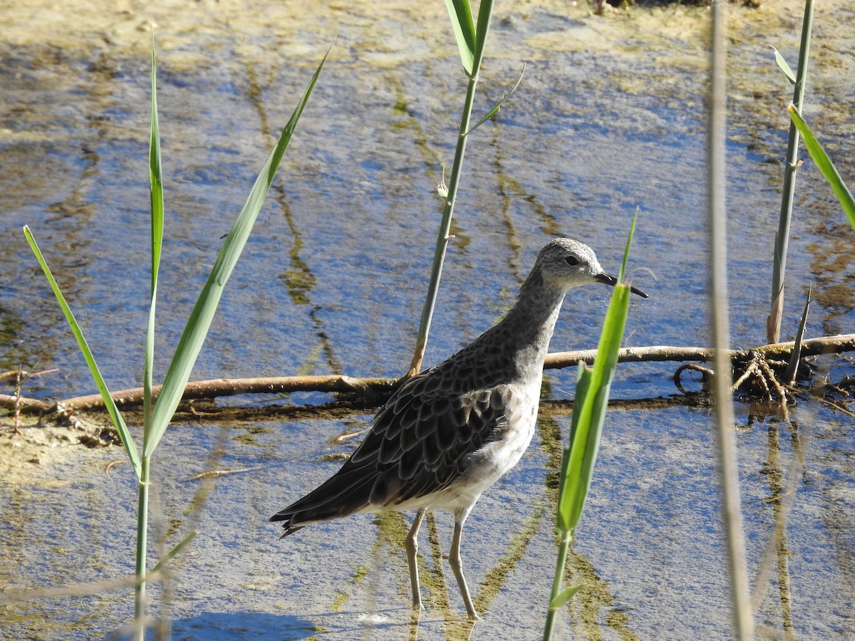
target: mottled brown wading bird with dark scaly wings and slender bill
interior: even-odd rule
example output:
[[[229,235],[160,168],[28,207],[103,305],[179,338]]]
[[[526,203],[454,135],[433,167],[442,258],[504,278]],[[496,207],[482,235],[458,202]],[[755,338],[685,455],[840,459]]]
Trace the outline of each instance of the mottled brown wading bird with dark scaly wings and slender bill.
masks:
[[[481,492],[528,447],[544,357],[564,294],[589,283],[616,284],[590,247],[568,238],[546,244],[502,321],[406,381],[339,472],[271,517],[284,521],[282,536],[347,515],[417,509],[406,550],[413,608],[419,609],[419,526],[428,510],[447,509],[455,519],[448,562],[469,617],[477,618],[460,562],[463,521]]]

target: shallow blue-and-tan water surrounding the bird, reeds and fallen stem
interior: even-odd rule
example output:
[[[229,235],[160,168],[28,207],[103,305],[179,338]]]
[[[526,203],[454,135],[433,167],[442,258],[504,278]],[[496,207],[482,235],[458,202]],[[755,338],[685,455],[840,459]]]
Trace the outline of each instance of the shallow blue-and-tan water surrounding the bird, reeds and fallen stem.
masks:
[[[334,3],[314,15],[302,4],[195,3],[144,15],[130,5],[63,14],[48,4],[0,3],[9,36],[0,44],[0,370],[58,368],[27,381],[24,393],[72,397],[92,385],[23,224],[109,384],[139,385],[151,17],[168,211],[158,371],[272,136],[338,33],[193,378],[404,372],[439,220],[434,185],[450,167],[462,101],[456,47],[442,3]],[[636,207],[631,268],[651,297],[634,302],[627,344],[706,344],[705,9],[596,17],[539,3],[497,11],[477,109],[501,97],[521,62],[527,68],[498,117],[469,141],[426,362],[450,355],[507,309],[549,238],[580,238],[616,270]],[[791,89],[769,46],[794,64],[800,11],[793,2],[731,11],[728,268],[740,346],[764,339],[786,144]],[[845,3],[817,7],[806,109],[845,177],[855,175],[847,153],[853,22]],[[56,37],[44,44],[49,27]],[[817,302],[808,335],[851,332],[852,230],[809,159],[798,185],[782,337],[793,334],[809,283]],[[592,346],[607,296],[572,293],[552,350]],[[832,377],[846,373],[851,367],[838,362]],[[669,395],[670,374],[660,364],[627,366],[615,395]],[[551,372],[549,381],[552,398],[572,397],[571,372]],[[805,479],[799,470],[785,474],[798,487],[788,552],[773,557],[758,621],[782,631],[792,620],[804,638],[842,637],[855,633],[852,420],[828,408],[805,411],[797,417]],[[156,460],[157,514],[176,528],[172,544],[185,532],[186,506],[201,484],[192,476],[206,469],[209,453],[220,448],[219,468],[244,470],[216,477],[198,516],[201,533],[168,599],[176,638],[412,636],[404,521],[353,517],[286,541],[267,522],[337,468],[319,457],[352,447],[330,439],[369,420],[200,422],[168,432]],[[749,422],[743,409],[740,424]],[[473,638],[520,629],[538,636],[555,556],[547,474],[556,431],[568,427],[568,418],[544,417],[540,446],[486,492],[468,521],[464,562],[486,612]],[[769,470],[788,470],[793,458],[784,428],[752,422],[738,432],[752,577],[771,536]],[[775,463],[769,457],[779,448],[769,439],[779,429]],[[121,451],[72,451],[4,479],[0,584],[68,585],[132,571],[133,479],[127,465],[103,472]],[[728,638],[717,510],[704,410],[613,412],[573,559],[591,589],[564,617],[563,634]],[[451,518],[438,515],[437,524],[439,545],[422,538],[430,591],[418,633],[461,638],[469,631],[456,586],[446,590],[441,562],[432,571],[448,549]],[[787,579],[788,611],[779,590]],[[129,592],[0,605],[0,627],[10,638],[103,635],[132,615]],[[159,603],[157,588],[153,594]]]

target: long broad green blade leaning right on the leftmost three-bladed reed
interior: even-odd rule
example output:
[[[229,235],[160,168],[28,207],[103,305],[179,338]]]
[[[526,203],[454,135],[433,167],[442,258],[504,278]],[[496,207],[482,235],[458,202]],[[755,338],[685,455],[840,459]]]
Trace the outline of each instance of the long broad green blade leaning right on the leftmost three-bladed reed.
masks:
[[[214,318],[217,304],[220,302],[222,290],[229,276],[231,276],[235,264],[238,262],[247,238],[249,238],[258,212],[262,208],[264,197],[267,195],[268,188],[273,182],[282,156],[285,154],[288,143],[291,141],[300,115],[303,113],[303,109],[309,100],[311,91],[315,87],[315,82],[321,74],[321,69],[324,62],[327,61],[328,55],[329,51],[327,50],[327,55],[323,57],[321,64],[315,70],[315,74],[312,76],[309,86],[300,98],[296,109],[294,109],[291,119],[282,131],[274,150],[270,152],[270,156],[268,156],[267,162],[264,163],[261,173],[258,174],[250,196],[246,199],[246,203],[243,209],[241,209],[238,220],[235,221],[232,227],[232,231],[228,233],[220,254],[214,263],[214,267],[211,268],[211,273],[203,287],[202,293],[193,307],[185,330],[181,334],[173,360],[169,364],[166,377],[163,379],[162,390],[155,403],[150,433],[146,434],[147,438],[145,438],[143,447],[144,456],[150,456],[156,449],[157,444],[160,443],[160,439],[163,437],[163,433],[166,432],[169,420],[178,407],[178,403],[180,403],[184,387],[187,384],[187,380],[190,379],[193,365],[196,363],[199,351],[202,350],[202,344],[208,333],[211,321]]]

